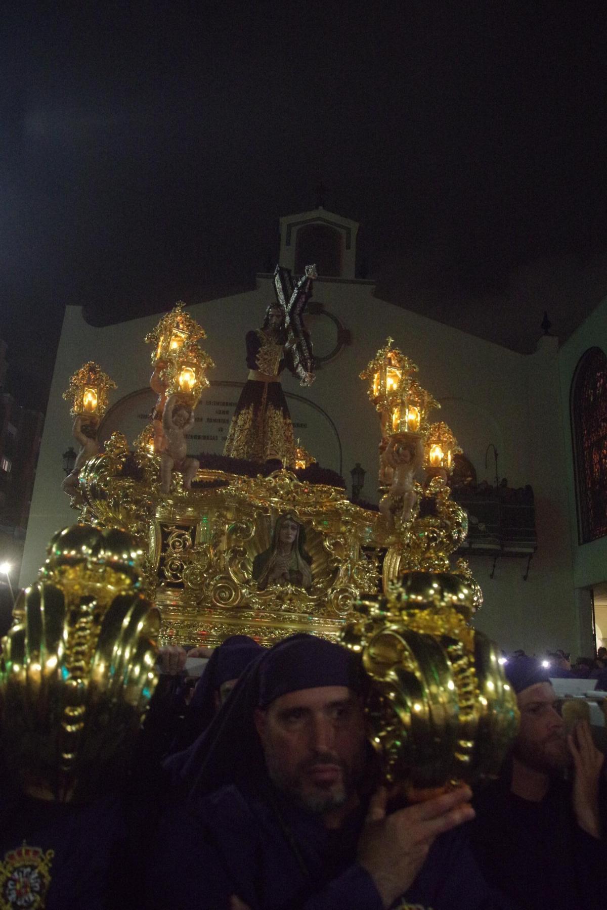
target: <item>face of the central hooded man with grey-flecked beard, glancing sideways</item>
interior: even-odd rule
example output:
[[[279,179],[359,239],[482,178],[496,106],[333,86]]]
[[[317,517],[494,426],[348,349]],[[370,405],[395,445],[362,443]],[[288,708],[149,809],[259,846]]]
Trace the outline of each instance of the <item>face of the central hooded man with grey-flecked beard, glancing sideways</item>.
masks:
[[[281,695],[255,723],[271,781],[309,811],[329,812],[354,793],[365,764],[362,704],[346,686]]]

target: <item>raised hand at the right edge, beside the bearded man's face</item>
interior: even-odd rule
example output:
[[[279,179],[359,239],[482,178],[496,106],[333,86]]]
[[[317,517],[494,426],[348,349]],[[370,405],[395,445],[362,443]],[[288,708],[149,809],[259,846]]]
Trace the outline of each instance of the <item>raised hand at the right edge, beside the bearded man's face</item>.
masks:
[[[592,837],[601,837],[599,780],[605,756],[594,745],[588,721],[578,721],[575,724],[573,733],[567,737],[567,743],[575,765],[573,812],[583,831]]]

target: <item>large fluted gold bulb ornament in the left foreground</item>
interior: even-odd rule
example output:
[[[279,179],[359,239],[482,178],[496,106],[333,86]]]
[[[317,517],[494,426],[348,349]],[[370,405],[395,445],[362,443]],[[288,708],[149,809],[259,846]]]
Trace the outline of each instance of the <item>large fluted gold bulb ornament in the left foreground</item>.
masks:
[[[0,660],[10,773],[61,802],[116,784],[157,682],[159,615],[125,531],[58,532],[15,607]]]

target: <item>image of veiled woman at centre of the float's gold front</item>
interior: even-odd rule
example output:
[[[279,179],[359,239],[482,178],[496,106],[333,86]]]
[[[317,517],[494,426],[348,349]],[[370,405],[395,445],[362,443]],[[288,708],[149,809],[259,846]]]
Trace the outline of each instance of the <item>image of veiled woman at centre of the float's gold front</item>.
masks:
[[[280,515],[271,545],[253,561],[253,578],[258,582],[258,591],[265,591],[268,584],[276,581],[308,589],[312,584],[311,562],[303,525],[290,513]]]

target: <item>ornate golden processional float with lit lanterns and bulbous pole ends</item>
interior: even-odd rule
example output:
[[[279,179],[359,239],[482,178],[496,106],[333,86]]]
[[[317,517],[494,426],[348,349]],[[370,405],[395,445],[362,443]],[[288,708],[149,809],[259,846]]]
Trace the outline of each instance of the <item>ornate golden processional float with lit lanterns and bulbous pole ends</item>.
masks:
[[[430,422],[440,405],[415,379],[418,368],[388,339],[360,374],[379,413],[379,511],[349,501],[338,486],[311,482],[313,459],[299,442],[293,470],[262,476],[260,466],[251,477],[202,466],[191,489],[187,469],[173,460],[165,493],[167,426],[183,429],[208,386],[204,338],[181,303],[160,320],[146,338],[158,395],[150,424],[132,444],[113,433],[79,470],[73,507],[81,523],[51,541],[8,636],[0,693],[4,684],[15,716],[19,700],[31,697],[25,677],[51,703],[63,667],[74,685],[62,703],[68,733],[55,748],[58,766],[68,769],[83,699],[96,692],[95,710],[107,706],[110,654],[121,661],[127,694],[120,698],[130,700],[131,714],[142,693],[149,697],[155,623],[160,642],[183,645],[215,646],[236,633],[269,645],[312,632],[361,653],[373,682],[372,739],[389,779],[423,789],[497,773],[518,723],[516,700],[495,644],[471,626],[481,589],[466,561],[450,564],[467,534],[467,515],[447,483],[460,449],[445,423]],[[113,383],[90,366],[66,395],[98,426]],[[186,411],[181,424],[167,424],[167,402],[173,414]],[[286,518],[305,531],[298,535],[306,541],[305,581],[301,573],[297,583],[268,581],[266,573],[262,584],[258,567]],[[53,611],[49,629],[40,617]],[[122,652],[120,635],[123,644],[130,636]],[[81,638],[88,644],[79,651]]]

